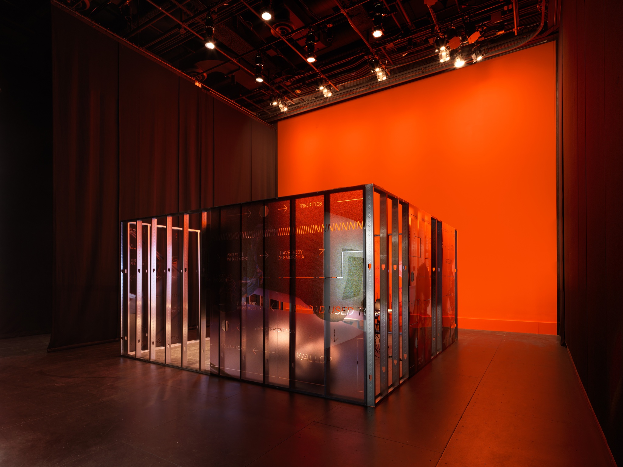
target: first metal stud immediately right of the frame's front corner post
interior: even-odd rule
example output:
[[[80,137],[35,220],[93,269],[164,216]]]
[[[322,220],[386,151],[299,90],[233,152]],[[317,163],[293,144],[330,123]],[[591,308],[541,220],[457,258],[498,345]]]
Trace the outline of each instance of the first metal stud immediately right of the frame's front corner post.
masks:
[[[388,197],[380,194],[379,203],[379,270],[381,292],[381,397],[388,394],[388,302],[389,302],[389,262],[388,262]]]

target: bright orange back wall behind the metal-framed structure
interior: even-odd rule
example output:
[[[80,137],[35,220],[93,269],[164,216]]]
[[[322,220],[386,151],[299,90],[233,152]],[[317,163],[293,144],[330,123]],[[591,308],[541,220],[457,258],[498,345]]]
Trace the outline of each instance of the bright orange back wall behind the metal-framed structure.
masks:
[[[280,121],[279,195],[379,184],[459,231],[460,328],[556,334],[555,50]]]

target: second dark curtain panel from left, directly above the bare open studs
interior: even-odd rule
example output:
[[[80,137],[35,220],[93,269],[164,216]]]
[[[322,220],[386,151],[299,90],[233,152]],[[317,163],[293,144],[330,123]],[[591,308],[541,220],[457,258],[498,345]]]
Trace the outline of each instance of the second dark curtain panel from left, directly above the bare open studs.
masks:
[[[119,49],[119,215],[179,209],[179,78]]]

